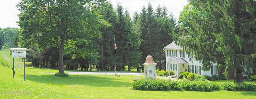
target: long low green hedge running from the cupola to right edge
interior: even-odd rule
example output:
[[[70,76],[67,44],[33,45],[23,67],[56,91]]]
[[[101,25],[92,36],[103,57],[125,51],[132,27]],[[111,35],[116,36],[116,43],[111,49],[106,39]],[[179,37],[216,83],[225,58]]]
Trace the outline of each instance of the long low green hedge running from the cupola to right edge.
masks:
[[[173,81],[165,79],[139,79],[132,83],[134,90],[188,90],[188,91],[213,91],[213,90],[228,90],[228,91],[256,91],[255,83],[217,83],[211,81]]]

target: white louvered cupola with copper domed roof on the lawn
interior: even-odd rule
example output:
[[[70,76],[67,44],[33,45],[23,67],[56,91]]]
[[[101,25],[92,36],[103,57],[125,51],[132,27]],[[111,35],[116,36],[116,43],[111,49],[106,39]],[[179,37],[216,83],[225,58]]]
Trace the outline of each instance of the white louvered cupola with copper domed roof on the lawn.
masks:
[[[155,79],[156,78],[156,63],[153,57],[148,55],[144,64],[144,74],[145,78]]]

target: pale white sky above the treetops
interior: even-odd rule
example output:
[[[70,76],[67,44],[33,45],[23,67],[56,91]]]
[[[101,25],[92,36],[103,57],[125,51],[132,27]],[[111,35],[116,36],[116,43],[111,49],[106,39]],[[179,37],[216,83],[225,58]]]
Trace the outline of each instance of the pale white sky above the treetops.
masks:
[[[16,8],[20,0],[0,0],[0,27],[18,27],[16,21],[19,21],[19,11]],[[108,0],[114,7],[117,6],[117,2],[120,2],[123,8],[127,8],[132,16],[135,11],[138,13],[141,11],[142,6],[147,6],[148,3],[156,9],[157,5],[165,5],[169,13],[173,13],[176,20],[179,18],[179,13],[185,5],[188,4],[187,0]]]

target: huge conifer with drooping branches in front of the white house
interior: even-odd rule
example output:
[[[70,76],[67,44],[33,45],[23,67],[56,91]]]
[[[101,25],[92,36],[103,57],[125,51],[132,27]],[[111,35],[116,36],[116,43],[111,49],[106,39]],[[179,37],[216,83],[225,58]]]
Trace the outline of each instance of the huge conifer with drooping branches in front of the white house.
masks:
[[[172,34],[182,46],[209,69],[224,63],[225,74],[233,67],[234,82],[243,83],[245,66],[256,56],[255,0],[189,0],[181,12],[182,33]],[[186,19],[184,19],[186,18]],[[221,59],[224,62],[221,62]],[[222,60],[222,61],[223,61]]]

